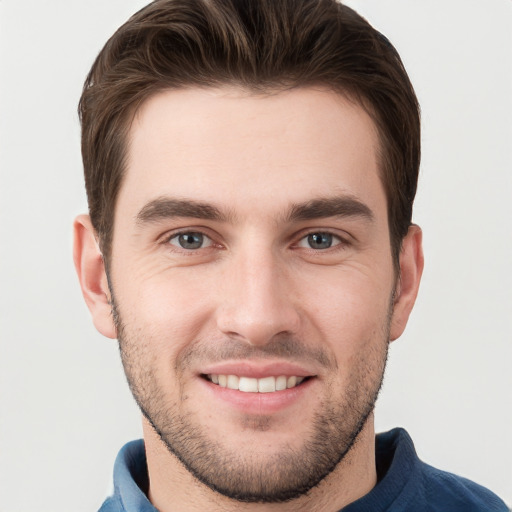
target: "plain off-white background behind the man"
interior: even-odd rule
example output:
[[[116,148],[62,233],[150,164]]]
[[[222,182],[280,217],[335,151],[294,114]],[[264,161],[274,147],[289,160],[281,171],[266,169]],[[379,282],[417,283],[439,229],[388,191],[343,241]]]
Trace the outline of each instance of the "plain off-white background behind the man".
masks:
[[[142,0],[0,0],[0,509],[96,510],[140,436],[115,341],[71,259],[86,210],[76,105]],[[353,0],[423,109],[415,220],[426,268],[391,350],[379,430],[512,504],[512,1]]]

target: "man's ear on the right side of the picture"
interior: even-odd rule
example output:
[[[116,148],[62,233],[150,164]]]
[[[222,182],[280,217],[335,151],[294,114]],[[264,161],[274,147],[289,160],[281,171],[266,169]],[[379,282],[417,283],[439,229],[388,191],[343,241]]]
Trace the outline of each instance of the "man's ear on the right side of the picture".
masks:
[[[418,295],[422,273],[422,232],[419,226],[412,224],[402,241],[402,250],[400,251],[400,276],[391,317],[391,341],[400,337],[405,330]]]

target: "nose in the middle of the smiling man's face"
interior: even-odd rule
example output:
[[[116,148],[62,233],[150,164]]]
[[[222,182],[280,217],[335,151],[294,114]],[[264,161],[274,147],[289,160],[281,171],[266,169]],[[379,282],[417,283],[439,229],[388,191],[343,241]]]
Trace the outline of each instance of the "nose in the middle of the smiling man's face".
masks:
[[[298,333],[301,315],[293,272],[270,250],[233,256],[223,277],[217,310],[223,334],[261,346],[276,336]]]

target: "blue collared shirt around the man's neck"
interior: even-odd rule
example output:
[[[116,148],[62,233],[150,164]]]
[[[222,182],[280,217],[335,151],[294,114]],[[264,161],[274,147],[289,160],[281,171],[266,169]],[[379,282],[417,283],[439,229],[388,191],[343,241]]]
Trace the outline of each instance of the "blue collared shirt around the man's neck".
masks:
[[[377,485],[340,512],[509,512],[484,487],[425,464],[409,434],[396,428],[377,435]],[[99,512],[158,512],[149,487],[142,440],[126,444],[114,465],[114,494]]]

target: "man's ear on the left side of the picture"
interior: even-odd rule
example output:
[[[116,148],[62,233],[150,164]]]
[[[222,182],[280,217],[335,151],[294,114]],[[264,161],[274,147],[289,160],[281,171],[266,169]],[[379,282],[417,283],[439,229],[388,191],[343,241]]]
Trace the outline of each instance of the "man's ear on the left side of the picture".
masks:
[[[73,232],[73,260],[94,325],[104,336],[117,338],[105,264],[89,215],[75,219]]]

